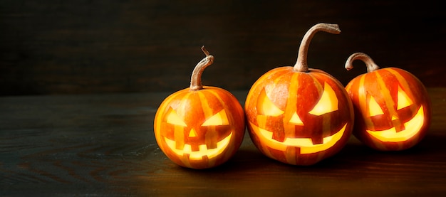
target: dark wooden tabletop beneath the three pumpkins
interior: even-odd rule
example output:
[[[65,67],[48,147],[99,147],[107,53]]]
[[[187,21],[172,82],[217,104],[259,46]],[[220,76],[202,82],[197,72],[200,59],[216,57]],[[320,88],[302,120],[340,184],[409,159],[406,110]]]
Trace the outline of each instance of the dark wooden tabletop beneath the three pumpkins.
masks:
[[[378,152],[352,137],[331,159],[290,166],[246,135],[207,170],[157,147],[153,118],[169,92],[0,97],[0,196],[444,196],[446,88],[429,93],[432,124],[413,149]]]

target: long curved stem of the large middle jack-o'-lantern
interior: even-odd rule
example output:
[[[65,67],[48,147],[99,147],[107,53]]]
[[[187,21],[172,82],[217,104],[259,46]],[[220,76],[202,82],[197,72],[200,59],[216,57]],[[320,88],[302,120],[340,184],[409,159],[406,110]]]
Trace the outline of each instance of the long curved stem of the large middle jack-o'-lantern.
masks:
[[[318,31],[325,31],[328,33],[339,34],[341,33],[341,29],[337,24],[328,24],[328,23],[318,23],[311,27],[302,38],[301,46],[299,46],[299,53],[297,54],[297,61],[294,65],[294,70],[299,72],[308,72],[308,64],[307,64],[307,54],[308,54],[308,46],[310,45],[311,38],[313,38],[314,33]]]

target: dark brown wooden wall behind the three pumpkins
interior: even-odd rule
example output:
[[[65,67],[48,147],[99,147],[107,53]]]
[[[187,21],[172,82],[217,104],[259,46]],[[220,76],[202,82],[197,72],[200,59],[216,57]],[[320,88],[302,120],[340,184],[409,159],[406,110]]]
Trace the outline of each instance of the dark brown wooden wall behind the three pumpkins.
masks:
[[[248,90],[260,75],[294,65],[316,33],[310,68],[344,85],[348,55],[363,52],[427,87],[446,86],[446,14],[440,1],[28,1],[0,0],[0,95],[176,91],[204,58],[204,85]]]

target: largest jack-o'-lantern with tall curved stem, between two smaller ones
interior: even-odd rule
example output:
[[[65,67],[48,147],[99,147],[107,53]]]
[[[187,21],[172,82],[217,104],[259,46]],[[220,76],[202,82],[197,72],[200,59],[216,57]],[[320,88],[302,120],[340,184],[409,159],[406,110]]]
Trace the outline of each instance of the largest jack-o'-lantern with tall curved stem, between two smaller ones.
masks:
[[[262,75],[245,103],[252,142],[261,153],[286,164],[316,164],[340,151],[351,136],[353,106],[343,85],[306,65],[309,40],[317,31],[340,33],[333,24],[310,28],[296,65]]]

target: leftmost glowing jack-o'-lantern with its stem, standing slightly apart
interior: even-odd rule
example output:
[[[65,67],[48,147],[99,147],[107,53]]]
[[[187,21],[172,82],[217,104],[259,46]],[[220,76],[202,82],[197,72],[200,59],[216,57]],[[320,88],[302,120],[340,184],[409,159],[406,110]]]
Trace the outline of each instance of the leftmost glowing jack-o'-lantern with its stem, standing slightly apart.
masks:
[[[157,144],[180,166],[206,169],[223,164],[244,137],[244,112],[230,92],[202,86],[201,75],[214,61],[207,55],[192,72],[190,87],[167,97],[155,115]]]

